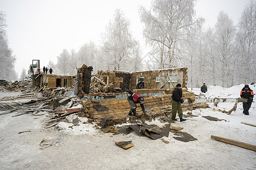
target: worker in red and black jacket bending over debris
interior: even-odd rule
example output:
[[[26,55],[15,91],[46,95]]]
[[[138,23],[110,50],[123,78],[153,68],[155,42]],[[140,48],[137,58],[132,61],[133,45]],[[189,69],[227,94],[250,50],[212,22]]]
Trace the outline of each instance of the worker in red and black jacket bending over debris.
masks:
[[[128,96],[128,102],[129,102],[130,108],[131,108],[128,115],[139,117],[136,112],[136,108],[137,108],[136,104],[140,104],[144,115],[147,116],[147,114],[145,112],[144,104],[143,104],[145,101],[144,97],[141,97],[138,94],[135,94],[135,92],[130,91],[130,90],[128,90],[127,92],[129,92],[129,94],[130,94],[130,96]]]

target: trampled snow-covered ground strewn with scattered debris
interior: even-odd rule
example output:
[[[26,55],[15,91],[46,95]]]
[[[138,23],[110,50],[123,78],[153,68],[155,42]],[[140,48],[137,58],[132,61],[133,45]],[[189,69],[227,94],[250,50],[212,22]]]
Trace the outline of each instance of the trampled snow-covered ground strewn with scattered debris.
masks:
[[[237,98],[243,86],[209,86],[205,97]],[[256,91],[254,85],[250,88]],[[200,89],[192,91],[200,94]],[[134,132],[105,134],[80,117],[79,126],[61,122],[56,129],[43,129],[46,116],[0,115],[0,169],[256,169],[255,151],[210,138],[216,135],[256,145],[256,128],[241,124],[256,124],[256,104],[251,105],[249,116],[242,113],[241,103],[229,115],[217,111],[229,111],[233,106],[234,103],[218,103],[215,107],[209,103],[210,108],[192,111],[197,117],[176,121],[172,126],[184,128],[181,131],[191,134],[197,141],[176,141],[173,138],[176,135],[170,132],[168,138],[163,137],[170,143],[139,137]],[[202,116],[224,120],[209,121]],[[73,118],[75,116],[70,116],[69,120]],[[164,125],[159,120],[147,123]],[[30,132],[18,134],[25,130]],[[40,150],[42,147],[38,143],[42,138],[54,145]],[[115,145],[116,141],[133,141],[134,147],[123,150]]]

